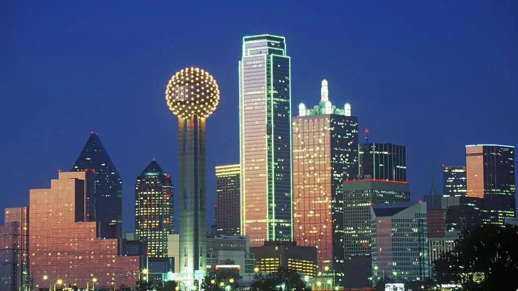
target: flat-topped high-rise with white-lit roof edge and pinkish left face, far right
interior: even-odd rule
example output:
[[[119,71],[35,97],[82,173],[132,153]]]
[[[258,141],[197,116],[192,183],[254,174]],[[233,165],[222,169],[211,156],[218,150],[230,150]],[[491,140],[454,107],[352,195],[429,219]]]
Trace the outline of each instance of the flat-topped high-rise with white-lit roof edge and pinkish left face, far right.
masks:
[[[514,147],[497,144],[466,146],[467,196],[482,200],[482,222],[505,225],[516,216]]]

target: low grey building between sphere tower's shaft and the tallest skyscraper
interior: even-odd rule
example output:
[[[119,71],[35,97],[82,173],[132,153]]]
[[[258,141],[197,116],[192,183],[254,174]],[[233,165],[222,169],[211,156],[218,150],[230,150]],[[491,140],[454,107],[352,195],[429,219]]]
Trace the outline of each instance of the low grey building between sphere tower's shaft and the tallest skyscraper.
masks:
[[[207,253],[207,269],[234,269],[240,278],[253,279],[254,255],[247,236],[207,238]]]

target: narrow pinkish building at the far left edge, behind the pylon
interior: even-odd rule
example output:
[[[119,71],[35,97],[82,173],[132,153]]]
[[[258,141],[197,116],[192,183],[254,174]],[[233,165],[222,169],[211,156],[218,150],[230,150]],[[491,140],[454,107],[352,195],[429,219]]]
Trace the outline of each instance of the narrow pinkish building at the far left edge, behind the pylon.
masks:
[[[27,207],[5,209],[0,246],[0,291],[32,289],[28,275]]]

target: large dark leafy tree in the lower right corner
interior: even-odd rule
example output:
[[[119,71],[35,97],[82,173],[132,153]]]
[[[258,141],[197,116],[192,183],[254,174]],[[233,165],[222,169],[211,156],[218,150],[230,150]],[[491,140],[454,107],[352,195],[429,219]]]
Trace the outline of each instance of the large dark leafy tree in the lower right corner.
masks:
[[[516,290],[518,226],[484,225],[463,231],[452,252],[434,261],[440,283],[461,283],[467,290]]]

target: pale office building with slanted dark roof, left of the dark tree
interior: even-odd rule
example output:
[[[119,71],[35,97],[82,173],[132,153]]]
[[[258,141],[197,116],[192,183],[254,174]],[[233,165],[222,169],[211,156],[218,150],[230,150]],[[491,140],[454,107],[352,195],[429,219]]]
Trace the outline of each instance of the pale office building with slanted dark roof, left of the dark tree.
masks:
[[[426,202],[373,205],[372,284],[429,277]]]

